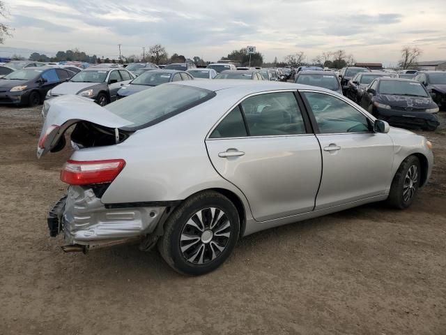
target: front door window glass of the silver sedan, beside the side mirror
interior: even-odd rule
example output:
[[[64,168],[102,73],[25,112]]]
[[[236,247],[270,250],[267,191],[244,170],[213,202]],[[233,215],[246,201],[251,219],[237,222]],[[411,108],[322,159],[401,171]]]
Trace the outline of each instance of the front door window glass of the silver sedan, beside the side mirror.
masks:
[[[302,92],[314,114],[321,134],[364,133],[367,117],[345,101],[328,94]]]

